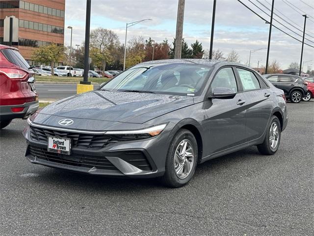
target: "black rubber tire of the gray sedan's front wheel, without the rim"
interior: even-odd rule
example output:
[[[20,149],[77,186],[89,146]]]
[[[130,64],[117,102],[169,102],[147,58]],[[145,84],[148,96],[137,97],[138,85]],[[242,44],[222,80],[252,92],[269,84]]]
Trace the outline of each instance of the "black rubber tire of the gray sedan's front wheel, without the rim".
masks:
[[[189,141],[189,145],[191,145],[193,153],[194,153],[194,159],[193,159],[192,165],[190,166],[189,173],[186,175],[186,177],[180,178],[177,176],[176,171],[175,171],[175,152],[177,148],[179,148],[179,145],[184,140]],[[174,187],[174,188],[182,187],[185,184],[187,184],[195,173],[197,160],[198,160],[198,149],[197,149],[197,141],[194,135],[189,130],[180,129],[175,135],[175,137],[173,138],[173,140],[171,141],[168,152],[167,152],[166,163],[165,163],[165,174],[161,178],[163,183],[167,185],[168,187]]]

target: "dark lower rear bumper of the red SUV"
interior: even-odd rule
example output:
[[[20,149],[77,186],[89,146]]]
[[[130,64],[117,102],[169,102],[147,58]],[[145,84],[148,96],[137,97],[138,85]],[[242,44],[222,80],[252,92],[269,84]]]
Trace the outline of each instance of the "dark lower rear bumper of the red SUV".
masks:
[[[11,108],[24,107],[21,112],[12,112]],[[0,120],[10,120],[15,118],[27,118],[34,114],[39,108],[39,102],[26,102],[22,105],[0,106]]]

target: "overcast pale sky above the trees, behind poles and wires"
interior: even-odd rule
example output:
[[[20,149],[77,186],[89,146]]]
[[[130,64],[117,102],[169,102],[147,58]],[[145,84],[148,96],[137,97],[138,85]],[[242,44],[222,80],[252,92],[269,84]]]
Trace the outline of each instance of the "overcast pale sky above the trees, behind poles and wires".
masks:
[[[241,1],[269,20],[270,17],[249,0]],[[259,0],[267,8],[257,0],[251,1],[270,14],[267,8],[271,7],[271,0]],[[297,7],[293,7],[296,11],[288,6],[287,1]],[[185,0],[183,37],[188,44],[197,39],[202,42],[204,49],[209,49],[212,4],[213,0]],[[85,34],[86,0],[66,0],[65,8],[65,44],[70,45],[70,29],[66,29],[67,26],[73,27],[73,45],[81,44]],[[121,43],[124,43],[127,22],[151,18],[153,21],[130,27],[128,40],[141,35],[146,39],[151,37],[156,42],[167,38],[171,43],[176,32],[177,8],[178,0],[92,0],[91,29],[98,27],[111,29],[118,34]],[[306,35],[306,38],[313,42],[308,40],[305,42],[314,46],[314,0],[275,0],[275,8],[274,13],[285,20],[290,19],[289,23],[297,29],[278,16],[274,16],[274,19],[300,35],[304,24],[301,13],[310,15],[306,27],[306,33],[309,35]],[[278,22],[274,21],[273,24],[302,41],[301,36],[284,28]],[[249,60],[250,50],[267,47],[268,30],[268,24],[237,0],[217,0],[214,49],[220,49],[225,55],[234,49],[239,53],[241,62],[245,63]],[[260,65],[265,65],[266,51],[262,49],[252,53],[251,66],[256,67],[258,60]],[[270,61],[276,59],[281,67],[286,69],[290,62],[299,63],[300,54],[300,42],[273,28]],[[303,59],[314,60],[314,48],[305,45]],[[304,69],[306,70],[306,66],[310,64],[314,64],[314,61],[305,62]]]

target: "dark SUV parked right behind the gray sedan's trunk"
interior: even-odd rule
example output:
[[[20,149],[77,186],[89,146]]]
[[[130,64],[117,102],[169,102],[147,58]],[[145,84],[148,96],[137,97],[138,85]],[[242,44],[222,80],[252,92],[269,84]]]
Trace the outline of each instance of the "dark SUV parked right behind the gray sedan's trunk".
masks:
[[[276,88],[285,92],[286,98],[293,103],[299,103],[307,96],[307,84],[300,76],[286,74],[267,74],[264,77]]]

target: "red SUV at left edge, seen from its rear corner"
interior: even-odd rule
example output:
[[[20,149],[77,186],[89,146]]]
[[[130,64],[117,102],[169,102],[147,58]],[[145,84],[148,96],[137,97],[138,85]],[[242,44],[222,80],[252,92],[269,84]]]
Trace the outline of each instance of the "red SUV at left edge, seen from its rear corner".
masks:
[[[18,49],[0,44],[0,129],[39,107],[34,72],[29,68]]]

